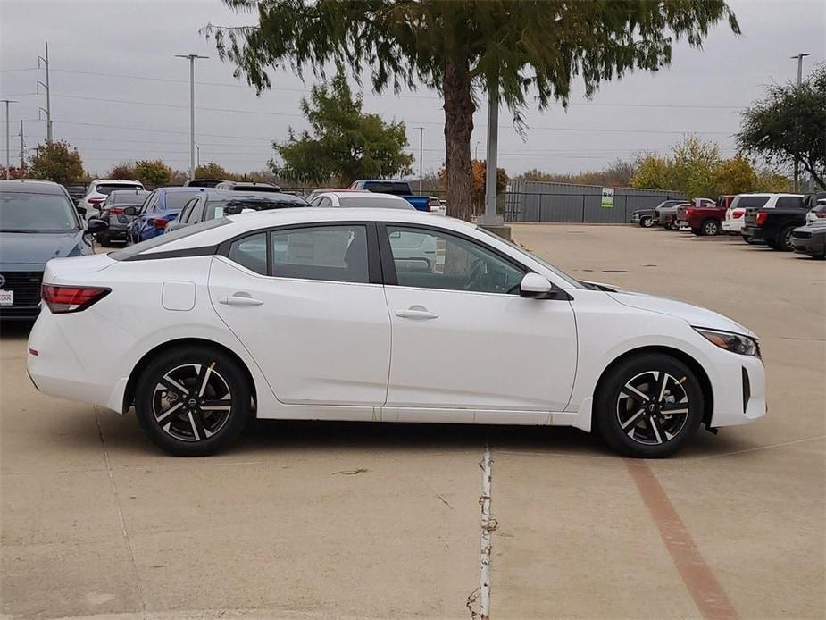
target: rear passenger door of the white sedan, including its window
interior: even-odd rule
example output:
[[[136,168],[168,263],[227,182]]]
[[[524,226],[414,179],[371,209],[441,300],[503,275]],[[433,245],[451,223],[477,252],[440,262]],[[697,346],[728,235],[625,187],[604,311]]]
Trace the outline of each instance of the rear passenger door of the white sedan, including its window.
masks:
[[[380,406],[390,321],[378,280],[367,226],[306,225],[234,241],[209,290],[282,403]]]

